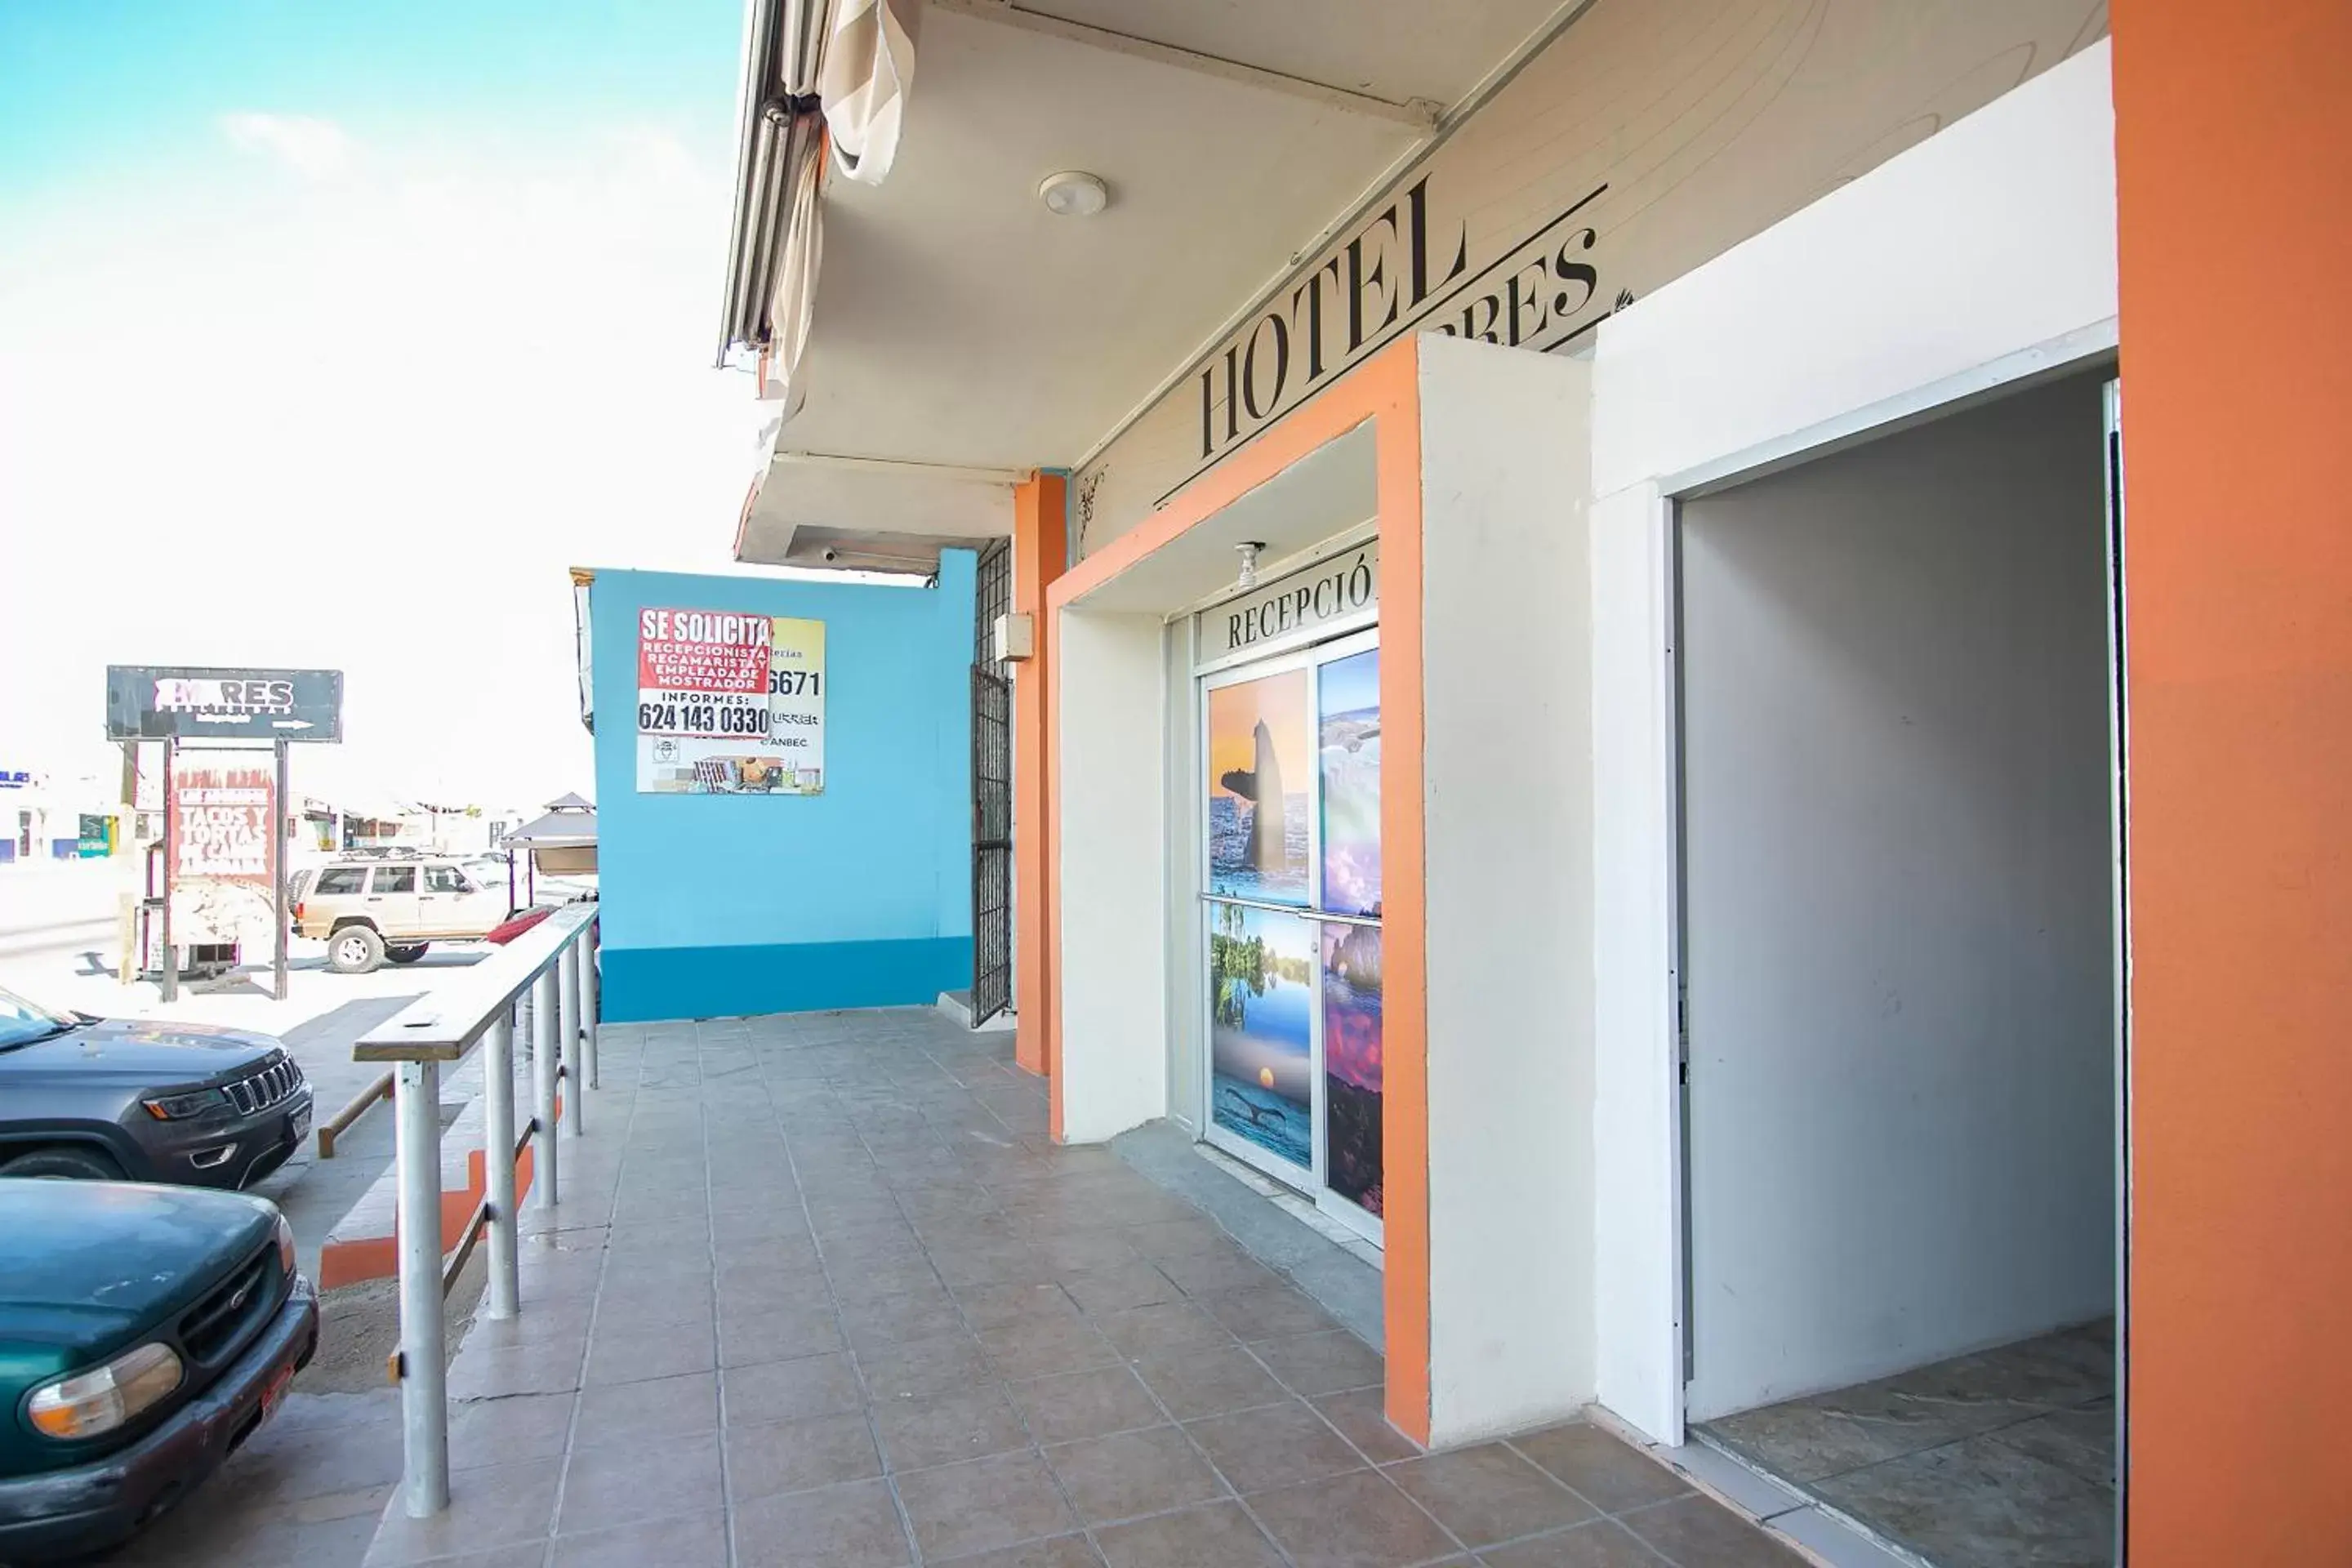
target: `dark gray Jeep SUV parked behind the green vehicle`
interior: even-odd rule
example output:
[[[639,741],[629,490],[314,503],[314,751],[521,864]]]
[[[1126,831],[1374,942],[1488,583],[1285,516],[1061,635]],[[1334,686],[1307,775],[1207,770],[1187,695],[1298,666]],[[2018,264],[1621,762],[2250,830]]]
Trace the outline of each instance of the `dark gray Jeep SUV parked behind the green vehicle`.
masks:
[[[0,990],[0,1175],[242,1190],[310,1131],[268,1034],[56,1013]]]

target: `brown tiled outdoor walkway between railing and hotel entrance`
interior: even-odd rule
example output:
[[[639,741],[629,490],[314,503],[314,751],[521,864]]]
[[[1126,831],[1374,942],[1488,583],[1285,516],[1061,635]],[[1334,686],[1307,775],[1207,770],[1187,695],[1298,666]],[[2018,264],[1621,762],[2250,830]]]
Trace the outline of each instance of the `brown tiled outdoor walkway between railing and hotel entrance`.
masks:
[[[454,1502],[369,1563],[1788,1568],[1595,1427],[1423,1455],[1381,1356],[929,1011],[607,1025]]]

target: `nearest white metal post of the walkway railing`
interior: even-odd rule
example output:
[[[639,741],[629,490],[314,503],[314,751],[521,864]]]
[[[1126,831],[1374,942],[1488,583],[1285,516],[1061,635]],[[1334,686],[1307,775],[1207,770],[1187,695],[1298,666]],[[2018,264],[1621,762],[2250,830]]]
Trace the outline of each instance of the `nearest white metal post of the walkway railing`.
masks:
[[[440,1286],[440,1063],[400,1063],[400,1425],[409,1519],[449,1507],[449,1356]]]

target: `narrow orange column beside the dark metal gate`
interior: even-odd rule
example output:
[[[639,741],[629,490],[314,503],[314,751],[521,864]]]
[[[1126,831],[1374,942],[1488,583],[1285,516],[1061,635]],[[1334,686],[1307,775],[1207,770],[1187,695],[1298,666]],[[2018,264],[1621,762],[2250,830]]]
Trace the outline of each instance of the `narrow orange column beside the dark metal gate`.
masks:
[[[1047,1070],[1054,1025],[1054,940],[1047,875],[1051,792],[1047,790],[1047,696],[1054,663],[1047,639],[1044,590],[1070,564],[1063,475],[1030,475],[1014,487],[1014,614],[1037,623],[1035,656],[1014,665],[1014,1060]]]

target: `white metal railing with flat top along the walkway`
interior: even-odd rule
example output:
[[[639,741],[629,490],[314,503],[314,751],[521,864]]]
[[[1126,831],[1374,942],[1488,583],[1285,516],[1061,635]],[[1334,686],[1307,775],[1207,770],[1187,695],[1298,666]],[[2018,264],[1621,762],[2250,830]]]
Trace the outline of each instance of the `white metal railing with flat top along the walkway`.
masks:
[[[532,1204],[557,1204],[557,1084],[569,1081],[564,1138],[586,1131],[595,1088],[597,905],[562,905],[513,943],[419,997],[353,1046],[353,1060],[393,1063],[400,1215],[400,1425],[402,1505],[412,1519],[449,1507],[449,1347],[442,1300],[475,1241],[489,1232],[489,1316],[522,1309],[515,1166],[532,1147]],[[515,1135],[515,1004],[532,992],[534,1117]],[[442,1260],[440,1074],[482,1051],[485,1194]],[[557,1053],[562,1063],[557,1063]]]

